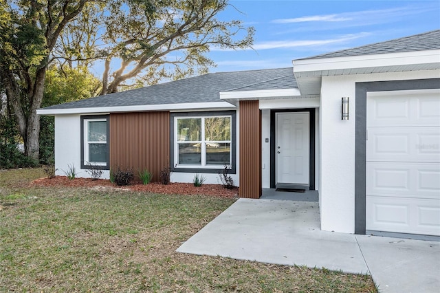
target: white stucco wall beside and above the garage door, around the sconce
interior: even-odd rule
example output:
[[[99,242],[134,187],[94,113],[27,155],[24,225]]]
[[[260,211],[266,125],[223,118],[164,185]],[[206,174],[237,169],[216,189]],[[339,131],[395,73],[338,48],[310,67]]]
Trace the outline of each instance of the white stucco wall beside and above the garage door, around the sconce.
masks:
[[[320,99],[321,229],[354,232],[355,83],[439,78],[439,71],[322,77]],[[341,120],[341,98],[350,97],[350,118]]]

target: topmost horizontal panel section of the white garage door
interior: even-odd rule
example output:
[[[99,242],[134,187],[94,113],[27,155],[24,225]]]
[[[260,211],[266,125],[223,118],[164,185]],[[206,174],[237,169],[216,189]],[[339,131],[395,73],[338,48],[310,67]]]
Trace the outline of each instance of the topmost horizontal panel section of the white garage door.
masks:
[[[439,123],[440,90],[368,93],[367,127],[430,126]]]

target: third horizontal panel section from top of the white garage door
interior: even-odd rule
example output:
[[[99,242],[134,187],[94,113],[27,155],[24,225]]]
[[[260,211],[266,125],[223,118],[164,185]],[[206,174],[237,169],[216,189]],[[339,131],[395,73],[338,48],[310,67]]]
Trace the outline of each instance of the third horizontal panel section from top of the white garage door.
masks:
[[[367,162],[366,194],[440,199],[440,165]]]

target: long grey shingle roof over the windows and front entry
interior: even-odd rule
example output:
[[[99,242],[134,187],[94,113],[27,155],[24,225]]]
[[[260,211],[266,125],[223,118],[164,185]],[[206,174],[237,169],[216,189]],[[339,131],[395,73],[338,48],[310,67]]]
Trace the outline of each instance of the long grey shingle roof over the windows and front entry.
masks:
[[[283,82],[281,82],[283,81]],[[219,102],[220,91],[240,89],[292,89],[296,80],[292,67],[242,72],[219,72],[131,89],[120,93],[77,100],[44,109],[76,109],[164,105],[190,102]]]

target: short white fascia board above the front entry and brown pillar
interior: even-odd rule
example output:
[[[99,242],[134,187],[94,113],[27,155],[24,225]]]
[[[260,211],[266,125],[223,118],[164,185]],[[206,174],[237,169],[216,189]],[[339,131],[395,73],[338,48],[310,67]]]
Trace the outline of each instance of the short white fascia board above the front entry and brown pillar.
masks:
[[[259,100],[301,96],[299,89],[262,89],[259,91],[220,91],[221,100]]]

